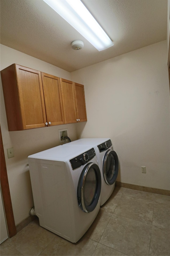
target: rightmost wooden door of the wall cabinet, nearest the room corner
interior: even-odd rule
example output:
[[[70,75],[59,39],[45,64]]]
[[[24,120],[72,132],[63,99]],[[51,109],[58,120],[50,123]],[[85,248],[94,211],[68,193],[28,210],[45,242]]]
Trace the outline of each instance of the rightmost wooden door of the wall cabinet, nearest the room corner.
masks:
[[[74,83],[75,105],[78,122],[87,121],[84,85]],[[80,119],[80,120],[79,120]]]

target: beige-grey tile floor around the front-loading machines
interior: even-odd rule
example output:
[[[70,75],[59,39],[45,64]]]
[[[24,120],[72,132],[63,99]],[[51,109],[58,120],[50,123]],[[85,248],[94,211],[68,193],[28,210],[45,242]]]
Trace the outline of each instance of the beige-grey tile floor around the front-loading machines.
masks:
[[[92,226],[71,243],[29,223],[1,255],[170,255],[170,197],[115,187]]]

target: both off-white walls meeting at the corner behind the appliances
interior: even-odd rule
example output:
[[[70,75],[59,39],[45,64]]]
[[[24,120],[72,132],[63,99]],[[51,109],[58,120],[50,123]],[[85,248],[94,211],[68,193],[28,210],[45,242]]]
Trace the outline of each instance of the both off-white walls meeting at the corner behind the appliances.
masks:
[[[1,45],[1,70],[17,63],[84,84],[87,123],[9,132],[1,84],[1,130],[15,224],[33,206],[27,157],[71,140],[110,137],[120,161],[118,180],[169,189],[169,84],[163,41],[72,72]],[[14,158],[7,148],[14,147]],[[146,166],[146,174],[141,173]]]

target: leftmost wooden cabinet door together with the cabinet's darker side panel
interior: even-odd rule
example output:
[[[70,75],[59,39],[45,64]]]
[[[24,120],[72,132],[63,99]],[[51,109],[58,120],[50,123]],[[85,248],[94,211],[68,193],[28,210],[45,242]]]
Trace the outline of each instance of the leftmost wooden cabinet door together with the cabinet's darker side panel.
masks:
[[[8,130],[45,127],[41,72],[12,64],[1,71]]]

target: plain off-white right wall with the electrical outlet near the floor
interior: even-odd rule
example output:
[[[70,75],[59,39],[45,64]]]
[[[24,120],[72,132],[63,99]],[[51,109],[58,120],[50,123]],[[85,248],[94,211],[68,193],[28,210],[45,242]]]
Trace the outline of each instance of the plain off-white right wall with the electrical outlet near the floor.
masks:
[[[167,42],[74,71],[71,80],[85,88],[88,121],[78,136],[111,138],[118,181],[170,189]]]

